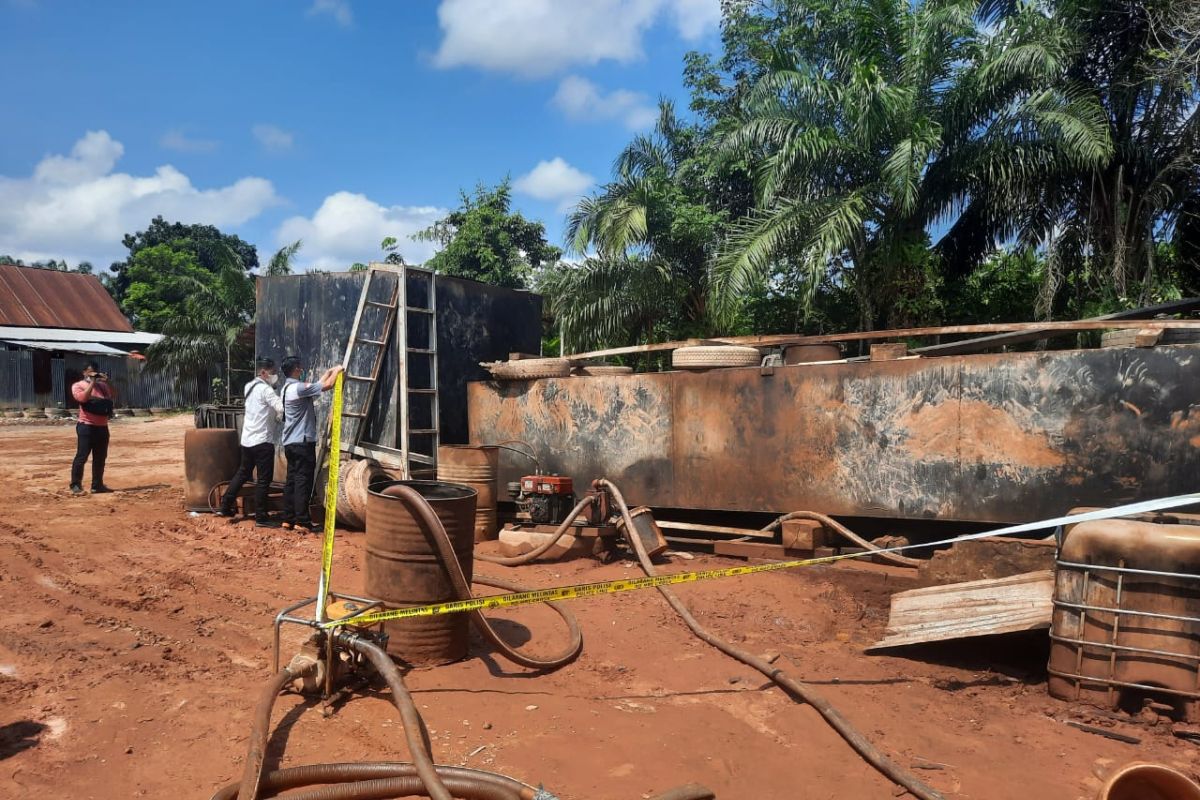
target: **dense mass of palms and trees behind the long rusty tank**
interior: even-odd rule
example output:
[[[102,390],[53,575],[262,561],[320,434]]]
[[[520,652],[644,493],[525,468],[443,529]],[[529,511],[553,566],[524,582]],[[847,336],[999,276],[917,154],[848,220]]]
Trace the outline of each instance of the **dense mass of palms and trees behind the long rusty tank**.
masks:
[[[571,213],[548,308],[578,349],[1200,290],[1190,5],[722,2],[689,118],[665,104]]]

